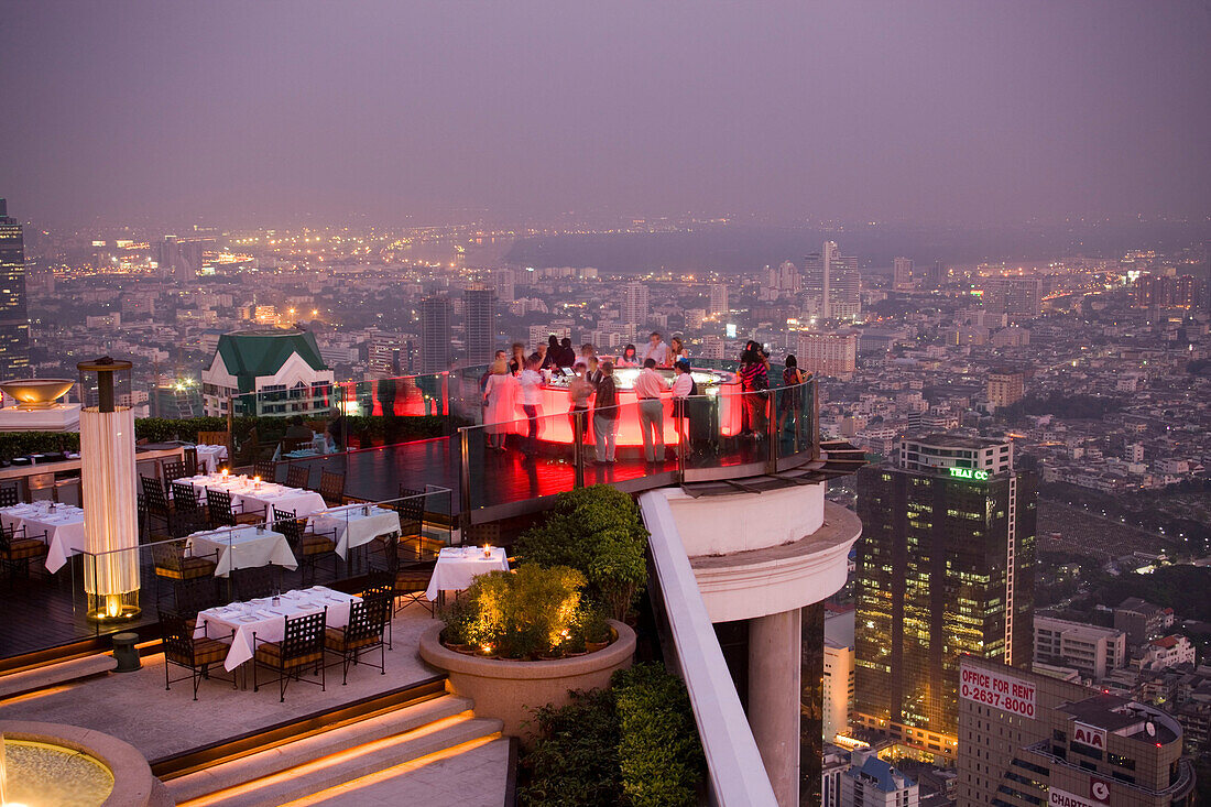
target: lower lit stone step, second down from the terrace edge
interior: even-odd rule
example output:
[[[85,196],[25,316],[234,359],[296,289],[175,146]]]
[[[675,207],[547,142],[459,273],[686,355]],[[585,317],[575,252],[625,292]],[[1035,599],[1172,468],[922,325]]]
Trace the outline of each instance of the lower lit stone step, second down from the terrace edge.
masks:
[[[311,756],[309,761],[257,778],[225,777],[233,782],[223,790],[184,800],[178,807],[280,807],[292,800],[304,799],[329,788],[346,784],[368,774],[394,768],[412,760],[464,744],[500,737],[499,720],[472,717],[469,712],[444,717],[419,728],[385,737],[361,745],[346,746],[327,756]],[[239,760],[229,765],[239,765]],[[222,773],[219,766],[217,772]],[[170,788],[174,783],[168,783]]]

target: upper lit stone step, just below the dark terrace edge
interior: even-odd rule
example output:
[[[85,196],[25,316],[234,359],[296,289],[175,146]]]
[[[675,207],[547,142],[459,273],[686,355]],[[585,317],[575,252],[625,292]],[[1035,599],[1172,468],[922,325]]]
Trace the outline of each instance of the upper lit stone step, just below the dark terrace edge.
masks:
[[[173,799],[184,802],[350,748],[414,731],[435,721],[458,715],[470,716],[470,700],[447,694],[263,751],[254,751],[229,762],[168,779],[166,784]]]

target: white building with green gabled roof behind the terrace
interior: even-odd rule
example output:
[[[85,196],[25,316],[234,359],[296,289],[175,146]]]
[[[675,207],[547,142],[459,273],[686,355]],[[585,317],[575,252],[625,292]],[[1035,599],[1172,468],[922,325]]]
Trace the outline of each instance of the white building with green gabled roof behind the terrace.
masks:
[[[334,376],[315,334],[297,328],[235,331],[219,337],[202,371],[202,408],[211,417],[304,417],[332,407]]]

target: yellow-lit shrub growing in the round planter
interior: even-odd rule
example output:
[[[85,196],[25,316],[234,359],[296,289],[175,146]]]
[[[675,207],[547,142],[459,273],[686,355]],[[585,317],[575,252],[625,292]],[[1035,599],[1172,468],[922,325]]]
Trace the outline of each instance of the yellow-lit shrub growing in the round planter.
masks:
[[[505,658],[534,658],[572,636],[584,585],[584,574],[567,566],[489,572],[466,590],[466,612],[447,611],[442,618],[447,631],[461,634],[466,643]]]

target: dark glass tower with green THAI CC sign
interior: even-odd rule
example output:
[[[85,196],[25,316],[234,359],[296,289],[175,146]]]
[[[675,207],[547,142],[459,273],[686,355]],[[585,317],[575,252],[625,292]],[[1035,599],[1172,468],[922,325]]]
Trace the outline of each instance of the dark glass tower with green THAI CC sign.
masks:
[[[857,475],[855,723],[953,760],[959,657],[1029,666],[1035,479],[1010,441],[900,441]]]

